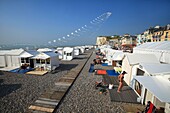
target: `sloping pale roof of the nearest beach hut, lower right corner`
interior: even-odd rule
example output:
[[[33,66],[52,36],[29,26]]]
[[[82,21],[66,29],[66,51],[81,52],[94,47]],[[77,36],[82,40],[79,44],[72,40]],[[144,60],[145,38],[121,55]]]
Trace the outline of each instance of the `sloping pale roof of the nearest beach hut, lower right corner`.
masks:
[[[170,81],[161,76],[135,76],[134,79],[152,92],[161,102],[170,103]]]

